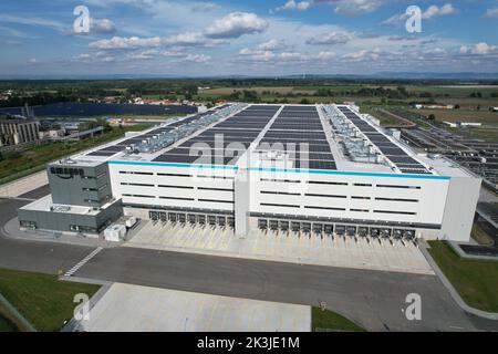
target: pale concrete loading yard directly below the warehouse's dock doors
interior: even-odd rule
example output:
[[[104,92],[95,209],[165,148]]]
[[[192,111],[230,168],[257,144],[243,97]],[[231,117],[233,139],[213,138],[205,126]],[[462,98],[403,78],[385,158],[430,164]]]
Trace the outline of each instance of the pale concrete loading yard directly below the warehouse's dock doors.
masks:
[[[413,241],[315,232],[252,230],[236,237],[226,226],[142,221],[127,247],[314,266],[433,274]]]

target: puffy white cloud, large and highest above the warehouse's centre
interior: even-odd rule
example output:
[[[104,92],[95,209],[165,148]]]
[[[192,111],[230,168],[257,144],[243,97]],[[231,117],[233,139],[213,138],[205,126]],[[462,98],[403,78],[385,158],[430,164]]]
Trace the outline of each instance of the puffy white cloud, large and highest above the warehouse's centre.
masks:
[[[216,20],[204,31],[204,34],[211,39],[235,39],[243,34],[264,32],[268,25],[268,21],[256,13],[232,12]]]

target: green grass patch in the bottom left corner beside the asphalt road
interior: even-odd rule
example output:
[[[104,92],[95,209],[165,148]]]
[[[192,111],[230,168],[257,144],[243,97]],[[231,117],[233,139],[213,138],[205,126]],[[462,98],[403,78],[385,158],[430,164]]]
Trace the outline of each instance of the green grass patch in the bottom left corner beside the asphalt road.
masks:
[[[42,332],[59,331],[73,316],[75,294],[91,298],[98,289],[100,285],[60,281],[55,275],[0,269],[0,293]]]

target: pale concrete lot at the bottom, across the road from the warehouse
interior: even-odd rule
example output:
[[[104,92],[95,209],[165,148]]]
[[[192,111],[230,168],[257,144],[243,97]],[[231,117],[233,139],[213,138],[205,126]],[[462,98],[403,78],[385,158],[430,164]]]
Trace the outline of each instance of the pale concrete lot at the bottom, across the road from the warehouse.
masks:
[[[87,332],[309,332],[311,309],[278,302],[114,283]]]

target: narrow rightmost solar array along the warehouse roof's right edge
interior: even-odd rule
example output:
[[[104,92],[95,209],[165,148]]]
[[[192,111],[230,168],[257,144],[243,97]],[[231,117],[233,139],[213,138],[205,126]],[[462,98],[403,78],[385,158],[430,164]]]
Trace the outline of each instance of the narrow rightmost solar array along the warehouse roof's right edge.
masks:
[[[404,149],[391,142],[384,134],[363,121],[347,106],[338,108],[350,119],[403,174],[430,175],[424,165],[409,157]]]

